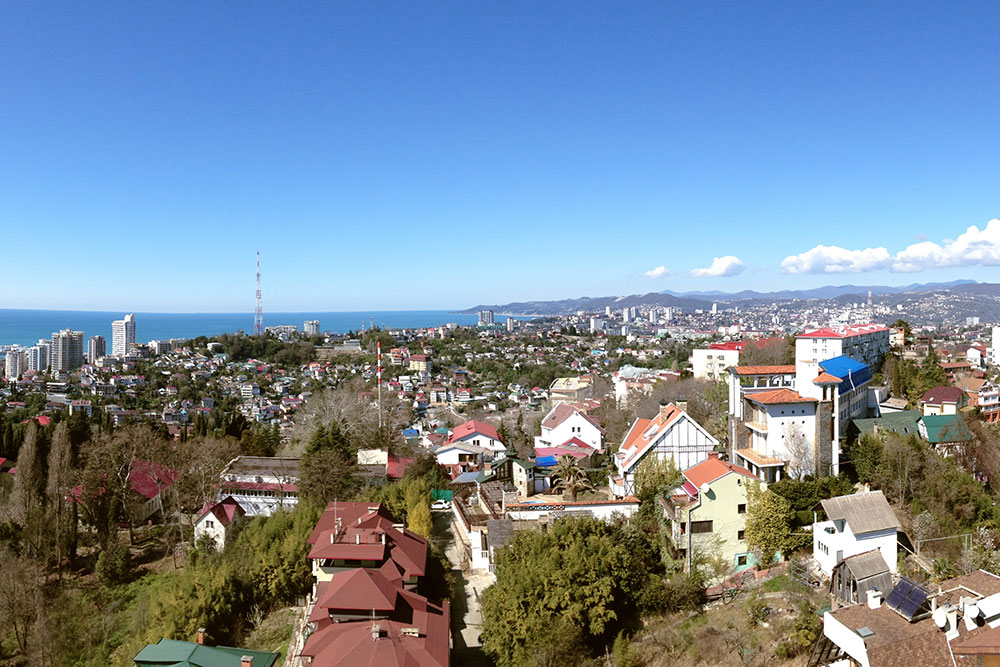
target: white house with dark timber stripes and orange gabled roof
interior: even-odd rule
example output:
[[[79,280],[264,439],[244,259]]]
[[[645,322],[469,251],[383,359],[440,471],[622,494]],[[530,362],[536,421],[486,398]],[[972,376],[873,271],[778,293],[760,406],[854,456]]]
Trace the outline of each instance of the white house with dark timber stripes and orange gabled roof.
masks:
[[[637,419],[615,453],[611,494],[624,498],[635,494],[635,475],[648,457],[670,461],[679,470],[701,463],[715,451],[719,441],[684,410],[673,403],[660,405],[653,419]]]

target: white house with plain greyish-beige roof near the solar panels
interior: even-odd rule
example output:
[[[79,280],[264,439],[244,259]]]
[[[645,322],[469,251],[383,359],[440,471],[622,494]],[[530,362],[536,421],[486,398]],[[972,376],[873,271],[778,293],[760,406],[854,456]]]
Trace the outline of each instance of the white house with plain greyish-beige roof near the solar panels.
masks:
[[[827,577],[841,561],[878,549],[896,572],[899,519],[881,491],[837,496],[822,501],[826,521],[813,523],[813,558]]]

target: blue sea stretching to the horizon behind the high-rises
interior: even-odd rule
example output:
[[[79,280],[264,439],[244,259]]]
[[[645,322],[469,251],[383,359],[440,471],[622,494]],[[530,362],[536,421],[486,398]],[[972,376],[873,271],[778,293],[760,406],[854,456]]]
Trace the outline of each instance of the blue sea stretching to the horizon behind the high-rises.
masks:
[[[0,345],[34,345],[62,329],[104,336],[111,349],[111,322],[126,313],[90,310],[16,310],[0,308]],[[518,318],[529,319],[529,318]],[[140,343],[170,338],[196,338],[253,331],[253,313],[135,313],[135,339]],[[332,313],[264,313],[264,326],[294,324],[302,330],[306,320],[319,320],[319,330],[332,333],[359,331],[372,325],[385,329],[423,328],[448,323],[473,325],[478,315],[449,310],[374,310]],[[497,323],[505,322],[497,317]]]

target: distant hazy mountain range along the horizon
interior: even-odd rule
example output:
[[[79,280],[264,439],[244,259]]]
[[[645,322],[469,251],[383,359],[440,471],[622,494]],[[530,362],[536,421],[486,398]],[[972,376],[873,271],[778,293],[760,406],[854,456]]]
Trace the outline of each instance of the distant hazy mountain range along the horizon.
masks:
[[[828,285],[809,290],[782,290],[778,292],[650,292],[648,294],[633,294],[631,296],[601,296],[579,297],[576,299],[561,299],[557,301],[519,301],[506,304],[480,304],[473,308],[458,311],[460,313],[475,313],[480,310],[492,310],[496,313],[512,315],[565,315],[576,311],[602,312],[611,306],[615,310],[630,306],[674,306],[685,310],[697,308],[708,309],[713,302],[732,301],[790,301],[795,299],[842,299],[845,296],[855,296],[858,299],[872,295],[902,295],[928,294],[933,292],[958,292],[969,295],[1000,296],[1000,285],[979,283],[975,280],[955,280],[948,283],[914,283],[902,287],[887,285]]]

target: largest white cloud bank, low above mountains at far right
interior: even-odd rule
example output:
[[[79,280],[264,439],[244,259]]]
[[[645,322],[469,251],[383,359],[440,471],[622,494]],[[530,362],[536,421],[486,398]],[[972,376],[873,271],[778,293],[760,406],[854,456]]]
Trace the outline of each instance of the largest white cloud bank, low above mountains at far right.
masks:
[[[912,273],[948,266],[1000,266],[1000,220],[979,229],[972,225],[955,240],[921,241],[895,255],[885,248],[847,250],[819,245],[781,262],[785,273],[858,273],[887,269]]]

